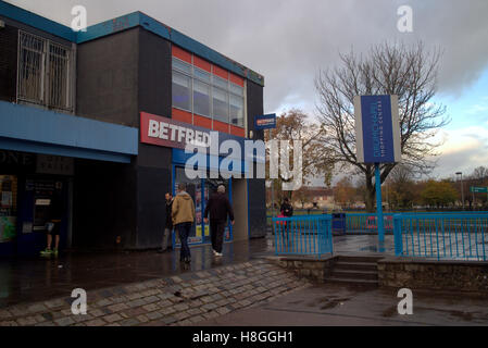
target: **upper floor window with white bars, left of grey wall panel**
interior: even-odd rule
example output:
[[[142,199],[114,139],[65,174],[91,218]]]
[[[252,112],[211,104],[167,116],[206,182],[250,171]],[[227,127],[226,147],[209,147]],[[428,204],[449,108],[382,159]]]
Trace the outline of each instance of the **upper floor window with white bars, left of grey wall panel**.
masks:
[[[18,40],[17,100],[73,111],[71,49],[25,32]]]

